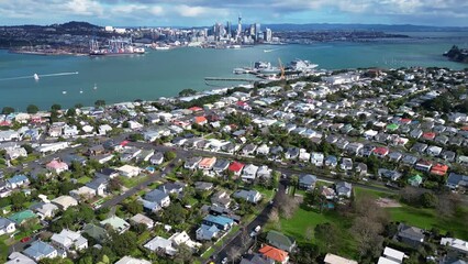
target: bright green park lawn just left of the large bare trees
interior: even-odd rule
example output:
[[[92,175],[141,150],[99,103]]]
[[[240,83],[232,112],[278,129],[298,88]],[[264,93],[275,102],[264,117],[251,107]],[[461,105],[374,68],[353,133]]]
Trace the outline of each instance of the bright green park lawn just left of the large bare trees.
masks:
[[[301,206],[291,219],[280,219],[280,231],[296,238],[299,244],[310,242],[315,244],[320,242],[315,241],[314,238],[312,238],[312,241],[309,241],[305,238],[305,230],[308,228],[314,229],[317,224],[326,222],[334,223],[339,230],[343,246],[341,246],[338,253],[343,256],[356,258],[356,242],[349,233],[352,220],[341,217],[335,211],[324,211],[323,213],[320,213],[314,209]],[[266,229],[271,229],[271,227],[267,226]]]

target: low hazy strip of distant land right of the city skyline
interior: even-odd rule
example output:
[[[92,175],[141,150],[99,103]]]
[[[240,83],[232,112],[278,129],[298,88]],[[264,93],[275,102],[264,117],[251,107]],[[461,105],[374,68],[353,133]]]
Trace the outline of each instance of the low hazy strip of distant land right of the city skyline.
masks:
[[[272,31],[339,31],[339,30],[374,30],[374,31],[393,31],[393,32],[468,32],[466,26],[428,26],[412,24],[266,24],[266,28]]]

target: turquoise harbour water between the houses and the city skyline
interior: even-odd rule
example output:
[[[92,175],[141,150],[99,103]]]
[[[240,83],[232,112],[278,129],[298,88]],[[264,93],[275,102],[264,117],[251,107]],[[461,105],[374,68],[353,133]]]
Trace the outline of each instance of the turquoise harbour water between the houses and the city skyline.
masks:
[[[445,37],[445,36],[444,36]],[[313,45],[255,46],[242,50],[177,48],[149,51],[145,55],[99,57],[34,56],[0,51],[0,107],[24,110],[30,103],[48,109],[53,103],[91,106],[135,99],[154,100],[176,96],[185,88],[213,89],[204,77],[232,77],[232,69],[257,61],[278,64],[309,59],[320,68],[438,66],[468,67],[448,62],[442,53],[453,44],[466,45],[468,37],[417,40],[393,43],[317,43]],[[275,50],[265,53],[264,50]],[[43,77],[33,75],[79,72],[78,75]],[[9,79],[24,77],[25,79]],[[98,89],[93,89],[94,84]],[[231,82],[223,82],[231,86]],[[66,91],[66,94],[64,94]]]

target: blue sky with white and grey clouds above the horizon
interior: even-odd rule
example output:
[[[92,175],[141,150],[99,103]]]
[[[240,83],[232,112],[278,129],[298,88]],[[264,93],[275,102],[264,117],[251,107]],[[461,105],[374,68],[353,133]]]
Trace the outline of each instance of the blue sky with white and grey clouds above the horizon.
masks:
[[[468,26],[468,0],[0,0],[0,24],[361,23]]]

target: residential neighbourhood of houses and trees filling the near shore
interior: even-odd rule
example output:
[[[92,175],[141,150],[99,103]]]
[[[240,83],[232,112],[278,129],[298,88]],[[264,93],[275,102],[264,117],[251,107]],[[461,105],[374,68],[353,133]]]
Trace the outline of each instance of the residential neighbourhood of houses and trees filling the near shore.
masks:
[[[467,80],[325,70],[3,112],[0,262],[465,263]]]

